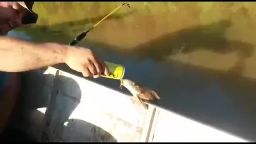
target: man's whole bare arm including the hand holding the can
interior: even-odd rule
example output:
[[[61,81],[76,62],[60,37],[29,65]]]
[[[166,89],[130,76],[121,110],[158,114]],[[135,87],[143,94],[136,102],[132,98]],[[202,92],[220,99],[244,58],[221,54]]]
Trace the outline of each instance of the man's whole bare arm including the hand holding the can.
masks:
[[[36,44],[13,37],[0,37],[0,71],[27,71],[63,62],[83,73],[85,77],[109,75],[106,64],[90,49],[57,43]]]

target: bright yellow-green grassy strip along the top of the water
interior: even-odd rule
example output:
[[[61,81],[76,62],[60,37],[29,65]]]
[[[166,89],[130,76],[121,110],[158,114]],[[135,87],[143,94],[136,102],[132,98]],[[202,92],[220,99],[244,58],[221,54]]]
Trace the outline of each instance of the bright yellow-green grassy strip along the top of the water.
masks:
[[[34,10],[40,14],[39,24],[56,24],[84,18],[107,15],[121,2],[35,2]],[[139,13],[186,11],[200,13],[202,21],[241,13],[256,16],[256,2],[130,2],[131,8],[121,8],[116,14],[135,10]],[[184,13],[184,15],[186,15]]]

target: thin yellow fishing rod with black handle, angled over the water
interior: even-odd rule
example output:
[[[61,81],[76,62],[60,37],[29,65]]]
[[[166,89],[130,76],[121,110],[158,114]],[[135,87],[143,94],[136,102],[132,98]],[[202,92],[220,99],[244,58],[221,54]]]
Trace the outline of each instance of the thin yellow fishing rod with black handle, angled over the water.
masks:
[[[123,2],[120,6],[118,6],[116,9],[114,9],[112,12],[109,13],[109,15],[112,15],[113,13],[115,13],[119,8],[121,8],[122,6],[124,6],[125,4],[127,4],[127,6],[130,8],[131,6],[127,3],[127,2]],[[72,40],[70,42],[69,45],[77,45],[79,41],[81,41],[83,38],[85,38],[85,36],[87,35],[87,33],[91,30],[93,30],[93,28],[95,28],[97,25],[99,25],[102,21],[104,21],[106,18],[109,17],[109,15],[106,15],[104,18],[102,18],[98,23],[94,24],[93,27],[91,27],[89,30],[80,33],[74,40]]]

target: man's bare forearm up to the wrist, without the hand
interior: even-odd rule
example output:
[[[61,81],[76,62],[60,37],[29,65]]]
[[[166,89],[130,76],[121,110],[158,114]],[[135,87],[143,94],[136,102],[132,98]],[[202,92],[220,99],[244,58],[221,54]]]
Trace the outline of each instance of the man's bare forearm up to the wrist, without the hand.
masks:
[[[20,72],[65,62],[66,45],[36,44],[13,37],[0,37],[0,71]]]

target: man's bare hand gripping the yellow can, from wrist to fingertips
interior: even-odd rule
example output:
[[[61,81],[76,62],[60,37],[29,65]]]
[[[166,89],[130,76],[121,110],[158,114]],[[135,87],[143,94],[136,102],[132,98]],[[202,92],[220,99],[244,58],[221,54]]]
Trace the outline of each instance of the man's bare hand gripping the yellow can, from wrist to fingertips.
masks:
[[[105,62],[100,61],[90,49],[69,46],[65,63],[72,69],[81,72],[83,76],[97,78],[109,75]]]

